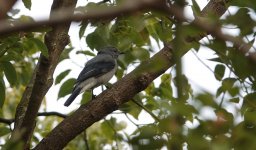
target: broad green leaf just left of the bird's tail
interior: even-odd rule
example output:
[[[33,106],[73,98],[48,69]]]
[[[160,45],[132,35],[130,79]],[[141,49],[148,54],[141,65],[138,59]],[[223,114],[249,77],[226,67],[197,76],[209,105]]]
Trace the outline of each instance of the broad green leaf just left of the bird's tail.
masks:
[[[60,87],[58,99],[68,94],[71,94],[75,82],[76,82],[76,79],[74,78],[68,79],[67,81],[65,81]]]

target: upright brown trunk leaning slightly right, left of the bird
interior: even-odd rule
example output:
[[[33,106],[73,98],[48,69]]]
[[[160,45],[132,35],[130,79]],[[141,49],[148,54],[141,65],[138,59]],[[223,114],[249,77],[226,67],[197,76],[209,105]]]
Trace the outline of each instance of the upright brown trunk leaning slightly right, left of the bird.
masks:
[[[76,1],[73,0],[54,0],[52,10],[63,7],[74,8],[75,5]],[[73,14],[73,11],[70,9],[70,12],[67,13]],[[58,64],[60,54],[69,43],[69,36],[67,34],[69,27],[70,22],[56,25],[52,27],[52,31],[45,35],[45,44],[48,48],[49,58],[43,55],[40,56],[32,80],[26,87],[21,102],[17,107],[12,138],[16,139],[17,137],[15,136],[23,131],[21,139],[25,144],[25,149],[29,148],[37,113],[45,94],[52,85],[53,72]]]

